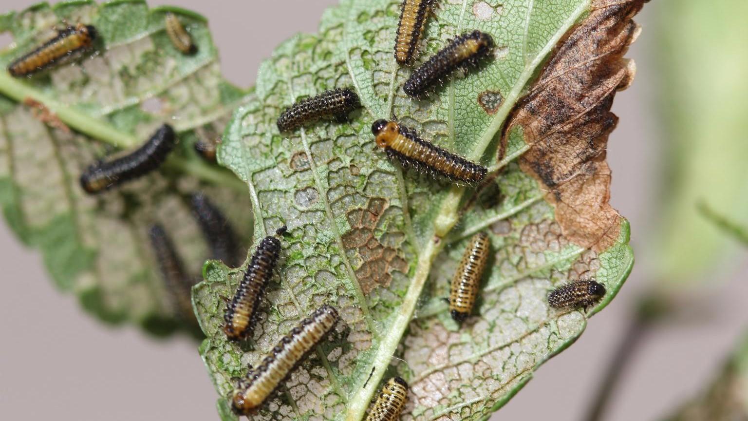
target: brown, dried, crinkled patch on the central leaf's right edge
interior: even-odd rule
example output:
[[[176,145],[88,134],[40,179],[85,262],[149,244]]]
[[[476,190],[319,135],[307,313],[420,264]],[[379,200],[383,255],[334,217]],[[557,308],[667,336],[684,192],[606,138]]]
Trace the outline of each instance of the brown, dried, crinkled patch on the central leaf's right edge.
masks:
[[[499,151],[501,159],[509,134],[521,128],[530,145],[521,169],[548,190],[564,236],[596,252],[613,245],[621,227],[608,203],[606,146],[618,122],[610,106],[634,79],[634,61],[623,55],[639,34],[632,18],[646,1],[592,2],[589,16],[565,35],[515,106]]]

